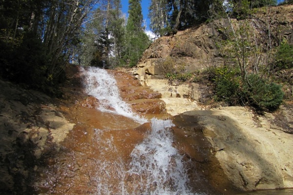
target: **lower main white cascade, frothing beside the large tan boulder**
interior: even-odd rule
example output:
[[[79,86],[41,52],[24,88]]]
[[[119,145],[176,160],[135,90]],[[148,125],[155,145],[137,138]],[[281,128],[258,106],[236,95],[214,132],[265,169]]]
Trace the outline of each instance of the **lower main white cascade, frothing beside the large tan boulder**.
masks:
[[[171,120],[151,120],[151,133],[131,153],[127,171],[141,179],[143,195],[191,195],[183,156],[172,146]]]

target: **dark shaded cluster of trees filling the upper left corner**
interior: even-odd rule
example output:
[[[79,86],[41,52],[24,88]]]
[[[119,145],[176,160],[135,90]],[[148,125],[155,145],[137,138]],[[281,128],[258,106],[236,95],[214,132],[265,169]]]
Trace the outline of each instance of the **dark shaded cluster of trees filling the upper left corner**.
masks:
[[[66,62],[76,57],[81,28],[86,20],[90,20],[88,14],[97,2],[98,0],[1,0],[2,76],[35,86],[42,83],[42,86],[36,86],[38,88],[56,84],[63,74]],[[18,54],[17,51],[21,49],[34,53]],[[40,56],[46,59],[46,63],[41,64],[42,60],[38,59]],[[25,75],[31,79],[27,79]],[[40,82],[35,78],[40,79]]]

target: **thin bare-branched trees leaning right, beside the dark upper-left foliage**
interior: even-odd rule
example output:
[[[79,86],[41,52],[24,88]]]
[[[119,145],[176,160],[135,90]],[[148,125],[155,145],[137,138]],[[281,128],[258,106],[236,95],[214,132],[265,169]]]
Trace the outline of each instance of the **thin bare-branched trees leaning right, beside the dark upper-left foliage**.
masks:
[[[43,17],[43,42],[52,56],[49,77],[58,77],[65,62],[72,59],[73,39],[78,38],[78,29],[97,3],[96,0],[54,0],[46,7]]]

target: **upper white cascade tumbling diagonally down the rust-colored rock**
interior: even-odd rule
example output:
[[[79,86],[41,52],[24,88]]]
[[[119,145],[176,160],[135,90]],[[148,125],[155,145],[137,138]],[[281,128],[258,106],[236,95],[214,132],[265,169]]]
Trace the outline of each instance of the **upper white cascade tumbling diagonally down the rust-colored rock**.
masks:
[[[85,75],[85,90],[88,95],[99,100],[100,105],[97,109],[129,117],[139,123],[147,122],[145,118],[133,113],[129,105],[122,100],[113,76],[106,70],[97,67],[87,67],[86,69],[81,67],[81,71]]]

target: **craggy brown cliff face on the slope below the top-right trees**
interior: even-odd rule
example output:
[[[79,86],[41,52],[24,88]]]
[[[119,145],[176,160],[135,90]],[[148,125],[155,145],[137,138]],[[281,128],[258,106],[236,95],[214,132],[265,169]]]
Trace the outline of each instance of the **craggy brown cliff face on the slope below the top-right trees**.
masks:
[[[271,34],[272,46],[278,46],[282,39],[293,44],[293,5],[260,9],[246,21],[250,23],[251,40],[257,38],[262,45],[268,44]],[[236,25],[235,20],[232,20]],[[235,26],[237,28],[237,25]],[[170,57],[176,64],[184,64],[186,72],[205,69],[210,65],[223,63],[224,54],[219,48],[220,39],[230,38],[228,19],[215,20],[209,24],[179,31],[174,36],[156,39],[143,54],[135,74],[140,79],[162,75],[160,65]]]

